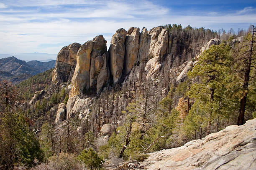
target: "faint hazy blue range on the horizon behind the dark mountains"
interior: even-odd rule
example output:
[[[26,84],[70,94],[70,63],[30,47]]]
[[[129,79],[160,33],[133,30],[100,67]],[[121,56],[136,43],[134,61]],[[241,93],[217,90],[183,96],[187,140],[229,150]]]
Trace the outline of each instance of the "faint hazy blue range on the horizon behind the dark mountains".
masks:
[[[26,62],[31,60],[38,60],[41,62],[51,61],[52,58],[56,58],[56,54],[47,54],[40,52],[31,52],[31,53],[17,53],[17,54],[0,54],[0,58],[5,58],[9,56],[15,56],[20,60],[25,60]]]

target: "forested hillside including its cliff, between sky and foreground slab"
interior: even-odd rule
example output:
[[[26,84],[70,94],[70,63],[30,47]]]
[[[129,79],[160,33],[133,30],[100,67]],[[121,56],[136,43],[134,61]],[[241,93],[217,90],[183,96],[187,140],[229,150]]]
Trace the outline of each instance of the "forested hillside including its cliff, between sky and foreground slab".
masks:
[[[256,118],[254,27],[139,30],[117,30],[108,51],[102,35],[70,44],[54,70],[1,82],[0,168],[114,169]]]

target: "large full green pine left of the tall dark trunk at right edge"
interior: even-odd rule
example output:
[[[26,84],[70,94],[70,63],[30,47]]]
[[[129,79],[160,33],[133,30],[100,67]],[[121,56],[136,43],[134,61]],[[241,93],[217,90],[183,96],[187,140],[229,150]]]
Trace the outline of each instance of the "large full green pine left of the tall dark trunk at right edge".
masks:
[[[210,133],[214,117],[225,114],[232,106],[226,95],[231,80],[230,47],[212,45],[200,55],[193,70],[188,73],[190,79],[199,77],[199,82],[191,85],[189,96],[200,100],[208,108],[207,134]]]

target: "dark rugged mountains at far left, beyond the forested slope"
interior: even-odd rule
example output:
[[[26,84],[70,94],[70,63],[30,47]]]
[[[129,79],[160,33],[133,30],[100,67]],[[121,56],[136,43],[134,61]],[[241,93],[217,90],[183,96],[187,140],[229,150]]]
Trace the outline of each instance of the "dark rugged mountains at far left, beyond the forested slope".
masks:
[[[8,80],[18,84],[32,75],[49,70],[55,66],[56,60],[41,62],[32,60],[29,62],[19,60],[16,57],[0,59],[0,80]]]

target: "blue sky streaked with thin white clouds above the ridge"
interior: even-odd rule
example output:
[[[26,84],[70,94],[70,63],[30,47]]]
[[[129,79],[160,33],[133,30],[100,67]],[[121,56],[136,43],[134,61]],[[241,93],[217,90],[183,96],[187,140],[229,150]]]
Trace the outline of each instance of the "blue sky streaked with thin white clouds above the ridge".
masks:
[[[57,54],[97,35],[109,46],[118,28],[175,23],[247,30],[256,25],[256,0],[0,0],[0,53]]]

